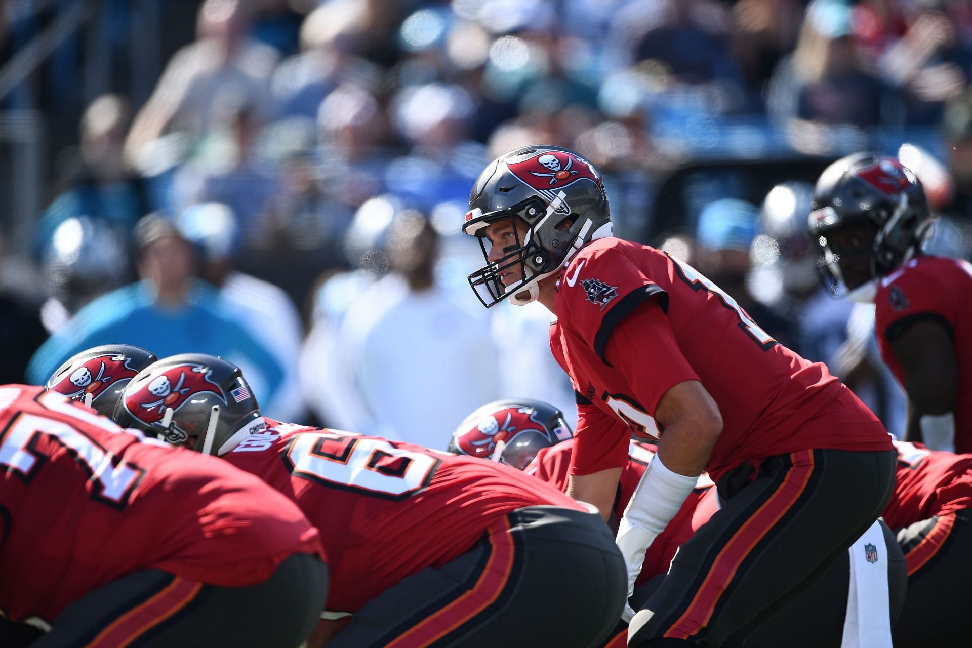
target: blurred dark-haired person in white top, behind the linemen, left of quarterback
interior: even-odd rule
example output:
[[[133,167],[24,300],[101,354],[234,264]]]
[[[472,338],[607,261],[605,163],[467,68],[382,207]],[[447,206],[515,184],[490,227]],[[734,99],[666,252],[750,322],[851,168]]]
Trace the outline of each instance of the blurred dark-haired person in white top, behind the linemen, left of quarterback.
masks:
[[[478,304],[435,284],[437,256],[431,222],[402,214],[392,273],[351,306],[337,348],[368,416],[355,429],[444,449],[442,429],[499,396],[499,369]]]

